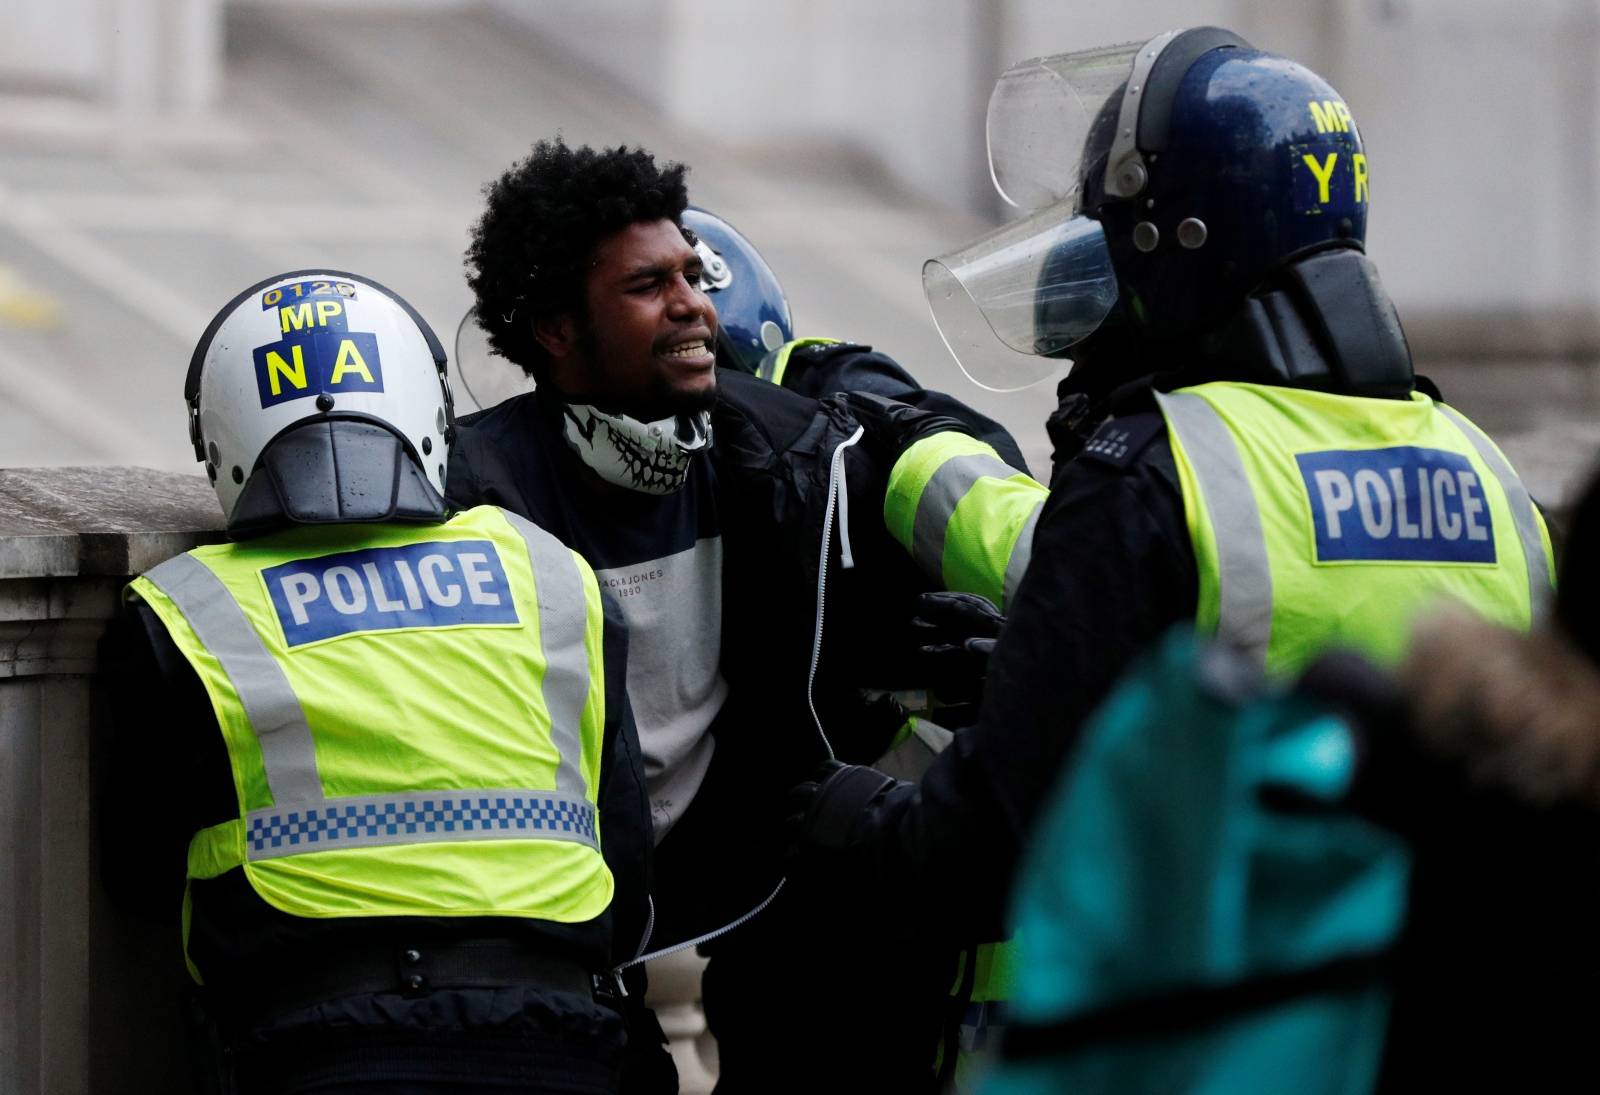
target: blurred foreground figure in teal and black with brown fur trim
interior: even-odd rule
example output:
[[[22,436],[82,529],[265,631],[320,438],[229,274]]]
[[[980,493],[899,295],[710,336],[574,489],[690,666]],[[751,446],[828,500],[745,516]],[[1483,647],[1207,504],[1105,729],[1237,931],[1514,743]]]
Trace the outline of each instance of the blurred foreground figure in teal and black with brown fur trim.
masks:
[[[1595,1009],[1557,986],[1600,961],[1597,535],[1590,483],[1544,626],[1442,608],[1394,672],[1333,650],[1269,682],[1182,632],[1141,658],[1030,840],[984,1092],[1590,1074]]]

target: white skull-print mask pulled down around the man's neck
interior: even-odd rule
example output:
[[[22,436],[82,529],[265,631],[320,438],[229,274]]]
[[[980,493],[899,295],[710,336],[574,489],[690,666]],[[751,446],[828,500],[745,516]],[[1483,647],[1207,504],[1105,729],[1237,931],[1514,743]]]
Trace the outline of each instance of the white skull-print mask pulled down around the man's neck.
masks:
[[[710,411],[642,423],[587,403],[562,405],[562,435],[600,479],[643,495],[670,495],[710,447]]]

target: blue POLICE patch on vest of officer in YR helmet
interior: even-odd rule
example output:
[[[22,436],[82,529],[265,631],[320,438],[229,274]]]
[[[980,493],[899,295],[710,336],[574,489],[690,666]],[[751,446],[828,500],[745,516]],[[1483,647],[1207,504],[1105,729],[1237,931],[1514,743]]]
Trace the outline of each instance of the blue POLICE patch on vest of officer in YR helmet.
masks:
[[[1443,448],[1299,453],[1317,562],[1494,562],[1494,523],[1472,463]]]

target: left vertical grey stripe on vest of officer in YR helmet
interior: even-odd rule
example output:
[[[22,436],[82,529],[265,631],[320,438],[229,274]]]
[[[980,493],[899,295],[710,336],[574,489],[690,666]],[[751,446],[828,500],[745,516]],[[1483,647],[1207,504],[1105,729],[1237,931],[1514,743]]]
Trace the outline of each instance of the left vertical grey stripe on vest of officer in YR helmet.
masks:
[[[1218,637],[1266,664],[1272,639],[1272,568],[1256,491],[1234,434],[1211,403],[1186,392],[1157,392],[1205,496],[1216,541]]]

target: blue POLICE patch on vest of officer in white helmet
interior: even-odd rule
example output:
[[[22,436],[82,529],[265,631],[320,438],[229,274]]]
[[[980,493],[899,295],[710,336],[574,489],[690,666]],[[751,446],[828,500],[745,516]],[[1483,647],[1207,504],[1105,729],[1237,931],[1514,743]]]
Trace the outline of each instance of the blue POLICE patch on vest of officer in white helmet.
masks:
[[[520,623],[488,539],[366,548],[267,567],[261,576],[290,647],[358,631]]]

